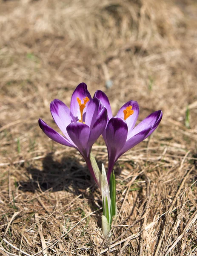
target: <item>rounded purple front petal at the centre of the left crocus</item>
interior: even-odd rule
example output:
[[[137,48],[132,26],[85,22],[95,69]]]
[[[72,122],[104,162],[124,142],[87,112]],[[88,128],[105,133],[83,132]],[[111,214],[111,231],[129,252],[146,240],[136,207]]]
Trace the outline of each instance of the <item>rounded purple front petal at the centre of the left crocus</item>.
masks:
[[[69,137],[73,141],[73,143],[77,146],[80,153],[83,157],[87,157],[89,155],[89,137],[90,137],[90,128],[88,125],[83,124],[81,122],[71,123],[66,128]]]

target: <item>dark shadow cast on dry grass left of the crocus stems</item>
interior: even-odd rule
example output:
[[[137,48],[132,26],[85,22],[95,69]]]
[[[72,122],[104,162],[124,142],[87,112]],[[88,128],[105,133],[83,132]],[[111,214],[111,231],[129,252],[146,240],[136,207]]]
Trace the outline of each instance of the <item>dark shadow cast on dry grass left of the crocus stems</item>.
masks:
[[[20,190],[24,192],[36,192],[42,190],[69,191],[76,195],[91,191],[96,188],[87,167],[83,167],[71,157],[63,157],[60,162],[53,158],[53,154],[47,154],[43,159],[43,168],[32,166],[27,169],[29,181],[20,181]]]

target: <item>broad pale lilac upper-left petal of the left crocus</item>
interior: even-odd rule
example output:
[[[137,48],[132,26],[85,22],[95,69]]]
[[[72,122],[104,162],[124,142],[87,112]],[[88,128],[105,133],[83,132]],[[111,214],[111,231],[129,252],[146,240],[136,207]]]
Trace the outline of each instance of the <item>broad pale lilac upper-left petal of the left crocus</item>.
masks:
[[[66,131],[66,127],[71,122],[76,122],[73,114],[69,110],[69,108],[59,99],[54,99],[50,104],[51,115],[53,116],[54,121],[57,126],[63,132],[63,134],[67,137],[68,133]]]

